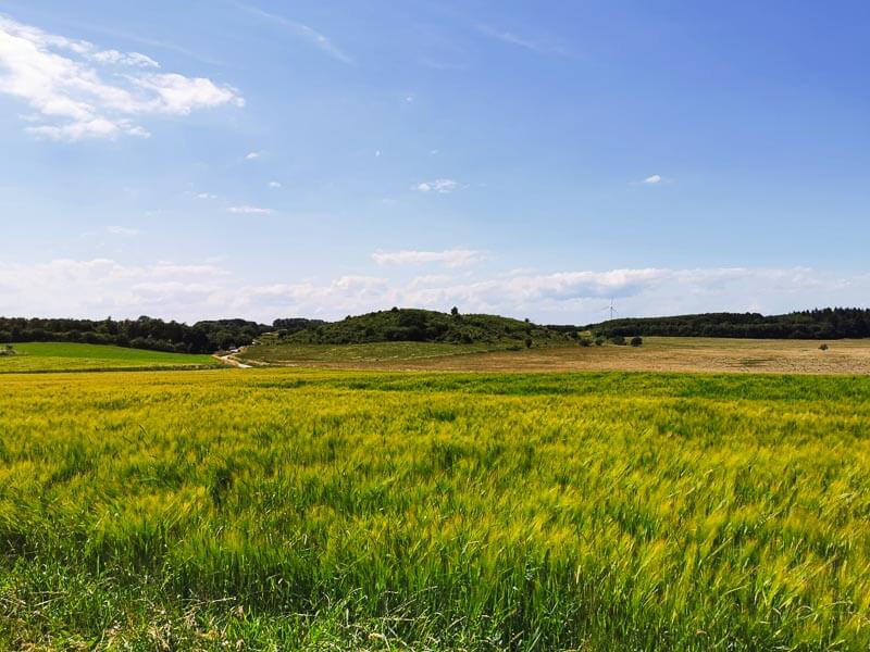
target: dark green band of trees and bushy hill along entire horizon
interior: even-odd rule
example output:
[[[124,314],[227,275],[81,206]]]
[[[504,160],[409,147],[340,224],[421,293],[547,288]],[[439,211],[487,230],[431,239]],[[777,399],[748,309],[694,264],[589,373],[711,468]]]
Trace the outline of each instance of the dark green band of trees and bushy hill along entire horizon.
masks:
[[[585,327],[534,326],[493,315],[446,315],[394,309],[325,323],[300,317],[271,326],[246,319],[213,319],[189,326],[148,316],[138,319],[57,319],[0,317],[0,343],[62,341],[116,344],[177,353],[212,353],[250,344],[264,333],[302,341],[488,341],[534,333],[575,336],[585,328],[605,338],[635,336],[842,339],[870,337],[870,310],[825,308],[765,316],[758,313],[706,313],[673,317],[619,318]]]

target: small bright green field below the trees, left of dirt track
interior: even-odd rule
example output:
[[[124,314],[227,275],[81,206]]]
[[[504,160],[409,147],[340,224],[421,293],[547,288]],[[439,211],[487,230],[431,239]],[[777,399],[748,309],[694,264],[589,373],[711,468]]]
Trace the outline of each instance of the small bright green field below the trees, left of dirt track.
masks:
[[[0,355],[0,374],[190,368],[220,364],[210,355],[164,353],[105,344],[34,342],[12,347],[15,355]]]

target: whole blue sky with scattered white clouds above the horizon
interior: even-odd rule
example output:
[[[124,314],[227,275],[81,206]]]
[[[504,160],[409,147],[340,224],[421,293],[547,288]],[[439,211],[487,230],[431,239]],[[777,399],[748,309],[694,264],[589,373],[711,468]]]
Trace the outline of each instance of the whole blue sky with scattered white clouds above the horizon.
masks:
[[[867,2],[0,0],[0,314],[868,305]]]

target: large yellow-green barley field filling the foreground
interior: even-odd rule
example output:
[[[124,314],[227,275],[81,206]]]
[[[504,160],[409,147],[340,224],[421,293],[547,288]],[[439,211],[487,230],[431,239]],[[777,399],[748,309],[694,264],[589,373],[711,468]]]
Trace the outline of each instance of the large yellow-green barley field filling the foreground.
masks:
[[[870,377],[0,377],[0,649],[869,647]]]

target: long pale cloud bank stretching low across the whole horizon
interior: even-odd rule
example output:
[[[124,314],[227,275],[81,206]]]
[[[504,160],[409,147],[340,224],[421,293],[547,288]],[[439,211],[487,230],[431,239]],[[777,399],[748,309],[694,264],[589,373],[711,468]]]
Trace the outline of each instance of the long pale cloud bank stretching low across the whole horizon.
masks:
[[[251,284],[212,264],[114,260],[0,262],[0,314],[196,321],[287,315],[340,318],[393,305],[494,312],[538,322],[586,324],[604,318],[612,297],[622,316],[710,311],[781,313],[822,305],[866,305],[870,274],[840,276],[794,268],[519,271],[457,281],[457,275],[415,278],[348,275],[333,280]]]

